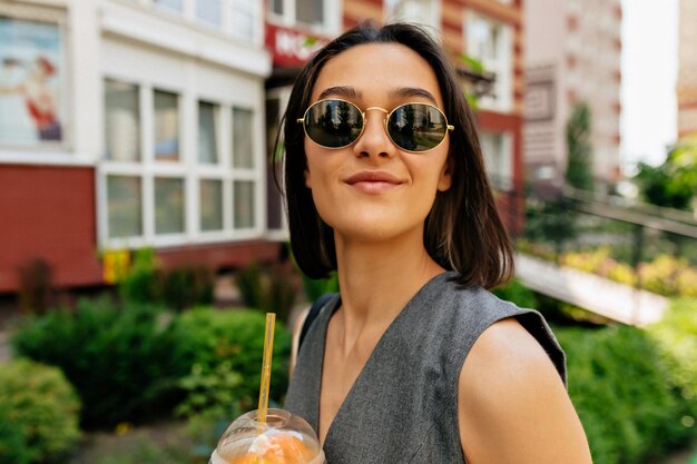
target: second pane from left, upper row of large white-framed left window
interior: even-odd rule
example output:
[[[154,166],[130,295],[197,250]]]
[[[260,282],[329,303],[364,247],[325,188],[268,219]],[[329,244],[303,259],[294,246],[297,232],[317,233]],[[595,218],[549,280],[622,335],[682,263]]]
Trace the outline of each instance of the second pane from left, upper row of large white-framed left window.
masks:
[[[179,159],[179,108],[176,93],[155,90],[155,159]]]

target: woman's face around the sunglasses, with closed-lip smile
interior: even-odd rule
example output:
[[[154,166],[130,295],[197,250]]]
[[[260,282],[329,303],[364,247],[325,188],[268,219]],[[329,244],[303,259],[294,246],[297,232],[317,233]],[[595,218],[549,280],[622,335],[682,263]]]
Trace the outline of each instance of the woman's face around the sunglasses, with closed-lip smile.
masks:
[[[356,46],[327,61],[311,105],[326,98],[348,100],[362,111],[391,111],[405,102],[443,109],[429,63],[397,43]],[[448,137],[430,151],[404,151],[387,136],[385,117],[380,110],[365,112],[363,134],[345,148],[323,148],[305,137],[305,184],[320,216],[346,239],[385,240],[410,233],[421,239],[436,191],[451,185]]]

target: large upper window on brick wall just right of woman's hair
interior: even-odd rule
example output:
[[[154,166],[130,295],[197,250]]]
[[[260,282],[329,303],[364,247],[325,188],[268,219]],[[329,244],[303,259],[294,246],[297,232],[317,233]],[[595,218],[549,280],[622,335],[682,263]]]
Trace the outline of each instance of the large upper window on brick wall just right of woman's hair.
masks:
[[[467,18],[467,53],[495,75],[493,95],[484,96],[480,103],[483,108],[508,111],[513,100],[511,28],[474,12]]]

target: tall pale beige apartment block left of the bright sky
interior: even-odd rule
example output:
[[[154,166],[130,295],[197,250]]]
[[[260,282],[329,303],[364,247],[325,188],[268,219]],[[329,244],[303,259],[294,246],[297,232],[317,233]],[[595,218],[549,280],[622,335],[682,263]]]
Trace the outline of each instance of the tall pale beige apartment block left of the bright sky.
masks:
[[[620,177],[620,0],[526,0],[524,164],[534,184],[561,188],[566,125],[590,108],[596,188]]]

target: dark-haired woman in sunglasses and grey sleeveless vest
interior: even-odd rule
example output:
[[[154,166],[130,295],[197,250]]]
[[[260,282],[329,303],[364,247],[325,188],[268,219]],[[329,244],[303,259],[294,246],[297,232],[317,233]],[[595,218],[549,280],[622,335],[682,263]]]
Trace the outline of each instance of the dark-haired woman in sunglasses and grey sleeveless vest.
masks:
[[[590,463],[541,316],[484,288],[512,251],[462,90],[414,26],[360,26],[301,71],[285,116],[291,241],[341,294],[285,407],[330,464]]]

